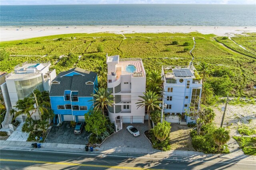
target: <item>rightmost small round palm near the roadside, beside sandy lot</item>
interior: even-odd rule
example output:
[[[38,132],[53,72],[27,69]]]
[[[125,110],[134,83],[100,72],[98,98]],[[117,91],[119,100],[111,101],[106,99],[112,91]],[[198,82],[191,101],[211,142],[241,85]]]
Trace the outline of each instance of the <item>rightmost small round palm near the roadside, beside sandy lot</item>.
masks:
[[[218,145],[218,152],[220,152],[220,146],[228,142],[230,139],[229,131],[225,128],[218,128],[213,132],[214,142]]]

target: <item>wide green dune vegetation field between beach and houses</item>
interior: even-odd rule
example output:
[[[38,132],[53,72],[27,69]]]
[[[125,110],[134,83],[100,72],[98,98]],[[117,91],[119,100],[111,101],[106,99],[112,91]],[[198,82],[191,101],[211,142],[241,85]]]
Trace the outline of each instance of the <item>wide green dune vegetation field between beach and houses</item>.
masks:
[[[246,35],[246,37],[236,36],[232,40],[250,51],[253,51],[252,49],[256,51],[255,34]],[[50,69],[55,68],[57,73],[72,68],[75,63],[82,69],[98,71],[97,61],[105,63],[106,53],[120,55],[121,58],[140,57],[146,69],[159,71],[162,65],[188,65],[191,56],[188,52],[184,52],[183,45],[186,44],[188,45],[186,48],[192,49],[194,36],[196,46],[193,55],[196,69],[202,61],[206,61],[210,65],[212,78],[218,77],[218,80],[226,81],[226,77],[223,76],[228,75],[232,85],[230,95],[256,96],[253,88],[256,85],[255,59],[222,46],[214,40],[213,34],[148,33],[125,34],[125,36],[126,40],[123,40],[122,35],[108,33],[65,34],[1,42],[1,49],[4,49],[10,57],[0,61],[0,71],[11,72],[15,65],[24,61],[50,61],[52,64]],[[66,64],[66,60],[70,57],[62,57],[59,60],[60,55],[68,56],[69,53],[76,56],[70,64]],[[78,55],[82,55],[79,60]]]

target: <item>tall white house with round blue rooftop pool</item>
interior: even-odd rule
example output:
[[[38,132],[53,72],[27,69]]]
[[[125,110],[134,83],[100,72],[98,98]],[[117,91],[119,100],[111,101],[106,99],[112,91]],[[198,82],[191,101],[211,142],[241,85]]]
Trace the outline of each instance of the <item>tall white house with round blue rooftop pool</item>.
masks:
[[[108,91],[114,95],[114,107],[109,107],[109,118],[117,130],[122,123],[144,123],[145,108],[138,108],[138,96],[146,91],[146,72],[141,59],[106,56]]]

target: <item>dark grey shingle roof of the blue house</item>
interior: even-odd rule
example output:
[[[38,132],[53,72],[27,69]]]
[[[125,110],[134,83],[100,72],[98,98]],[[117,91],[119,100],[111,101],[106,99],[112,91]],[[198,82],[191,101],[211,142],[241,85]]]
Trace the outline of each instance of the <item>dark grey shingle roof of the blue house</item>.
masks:
[[[64,76],[72,72],[81,75]],[[63,77],[62,77],[63,76]],[[68,71],[61,72],[53,81],[58,81],[60,84],[52,84],[50,89],[50,96],[63,96],[65,90],[78,91],[78,97],[90,97],[93,93],[94,85],[86,85],[86,82],[94,82],[97,73],[86,71],[78,67]]]

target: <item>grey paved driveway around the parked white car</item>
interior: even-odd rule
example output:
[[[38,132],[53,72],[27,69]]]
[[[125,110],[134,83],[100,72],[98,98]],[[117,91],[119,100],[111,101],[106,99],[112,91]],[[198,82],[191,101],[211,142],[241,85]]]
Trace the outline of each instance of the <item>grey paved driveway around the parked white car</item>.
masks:
[[[148,139],[144,136],[144,131],[148,130],[148,122],[145,121],[144,124],[133,123],[133,124],[124,124],[123,129],[118,131],[116,134],[113,134],[103,142],[101,146],[107,147],[133,147],[133,148],[144,148],[152,149],[152,145]],[[134,137],[130,132],[126,130],[128,126],[134,126],[140,131],[140,136]]]

